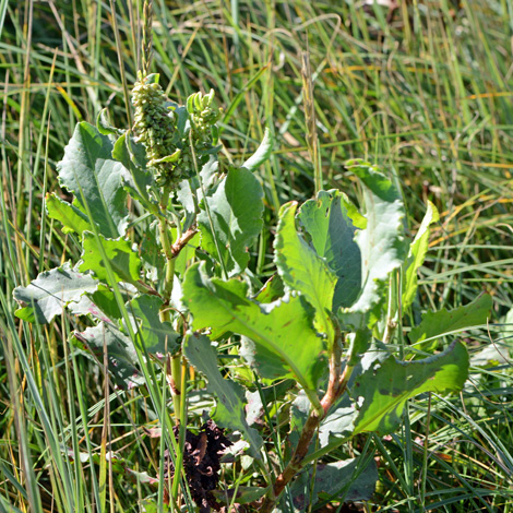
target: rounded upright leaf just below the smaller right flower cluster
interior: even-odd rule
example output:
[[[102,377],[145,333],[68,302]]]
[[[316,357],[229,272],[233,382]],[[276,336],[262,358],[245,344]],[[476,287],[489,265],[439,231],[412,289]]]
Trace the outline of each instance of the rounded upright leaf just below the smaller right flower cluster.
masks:
[[[230,276],[241,273],[248,265],[248,247],[262,229],[262,199],[259,180],[241,168],[230,169],[214,194],[204,200],[208,202],[214,232],[207,213],[202,211],[198,216],[202,247],[217,261],[223,261]]]

